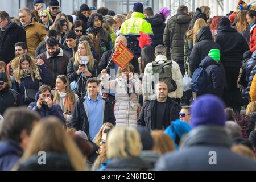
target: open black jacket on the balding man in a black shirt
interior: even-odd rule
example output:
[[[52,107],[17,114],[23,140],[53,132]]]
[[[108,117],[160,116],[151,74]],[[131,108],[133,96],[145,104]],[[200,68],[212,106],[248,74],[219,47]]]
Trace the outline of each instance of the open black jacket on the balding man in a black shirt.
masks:
[[[156,123],[157,119],[153,121],[154,115],[156,115],[156,110],[154,110],[156,105],[156,100],[148,100],[147,102],[144,102],[141,113],[139,114],[138,118],[138,126],[146,126],[148,129],[154,130],[155,128],[152,128],[152,122]],[[177,104],[175,101],[172,101],[170,97],[167,97],[166,101],[170,108],[170,119],[171,121],[175,121],[177,118],[179,118],[179,112],[181,110],[181,106]],[[164,114],[164,113],[163,113]],[[156,116],[157,118],[157,116]],[[171,123],[171,121],[169,121]]]

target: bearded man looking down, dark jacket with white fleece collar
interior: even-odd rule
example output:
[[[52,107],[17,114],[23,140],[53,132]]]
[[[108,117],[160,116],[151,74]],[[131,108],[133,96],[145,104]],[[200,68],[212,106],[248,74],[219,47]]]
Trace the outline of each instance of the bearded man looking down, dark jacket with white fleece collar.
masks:
[[[51,88],[55,88],[55,81],[58,75],[67,75],[67,66],[69,57],[63,53],[63,49],[59,47],[59,44],[55,38],[48,38],[46,41],[47,51],[38,55],[36,61],[44,62],[50,74]]]

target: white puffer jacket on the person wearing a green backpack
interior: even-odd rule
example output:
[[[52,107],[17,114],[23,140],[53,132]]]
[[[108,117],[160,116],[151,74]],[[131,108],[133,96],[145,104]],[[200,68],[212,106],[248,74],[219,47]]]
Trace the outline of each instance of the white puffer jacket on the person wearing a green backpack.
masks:
[[[167,60],[167,57],[164,55],[156,56],[155,61],[161,64],[161,61]],[[163,62],[163,61],[162,61]],[[143,100],[154,100],[156,99],[156,94],[153,94],[152,90],[152,63],[148,63],[145,67],[144,76],[142,79],[142,93],[143,93]],[[176,82],[177,89],[174,92],[169,92],[168,96],[171,98],[181,98],[183,95],[183,77],[180,72],[179,64],[175,61],[172,61],[172,79]]]

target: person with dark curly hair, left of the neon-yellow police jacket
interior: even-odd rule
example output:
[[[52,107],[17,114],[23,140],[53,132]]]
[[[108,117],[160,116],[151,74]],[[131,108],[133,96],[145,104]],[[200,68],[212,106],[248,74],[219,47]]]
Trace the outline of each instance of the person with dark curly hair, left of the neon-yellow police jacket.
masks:
[[[93,36],[93,46],[96,52],[96,60],[100,60],[103,53],[113,48],[110,34],[102,28],[103,17],[101,14],[93,14],[88,20],[87,34]]]

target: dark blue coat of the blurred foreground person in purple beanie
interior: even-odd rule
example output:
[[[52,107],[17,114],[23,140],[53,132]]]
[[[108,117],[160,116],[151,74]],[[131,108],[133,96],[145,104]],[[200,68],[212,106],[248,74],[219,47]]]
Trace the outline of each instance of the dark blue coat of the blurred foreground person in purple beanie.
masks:
[[[255,171],[256,162],[232,152],[230,143],[224,127],[197,127],[187,134],[179,151],[160,157],[155,170]]]

